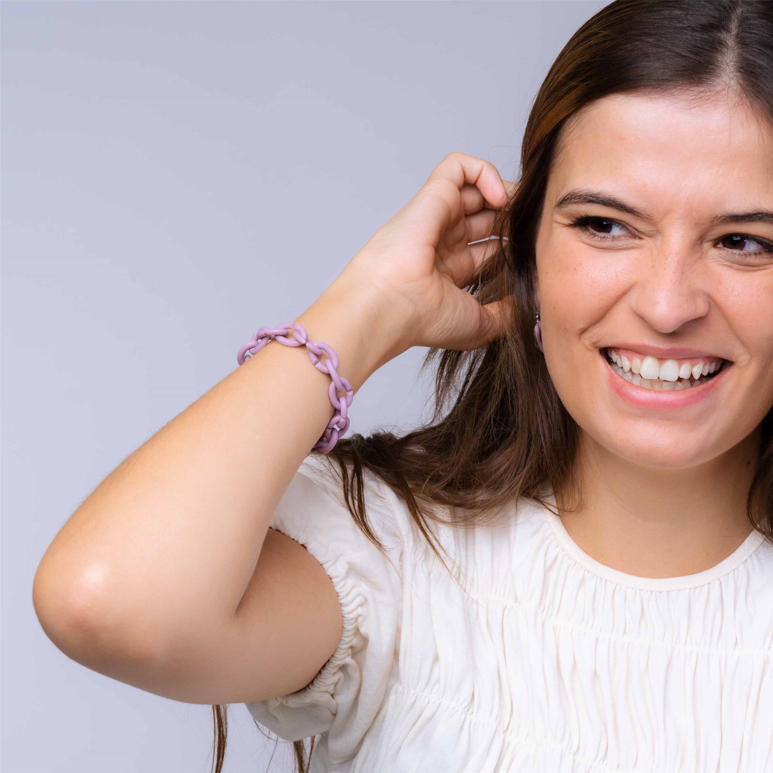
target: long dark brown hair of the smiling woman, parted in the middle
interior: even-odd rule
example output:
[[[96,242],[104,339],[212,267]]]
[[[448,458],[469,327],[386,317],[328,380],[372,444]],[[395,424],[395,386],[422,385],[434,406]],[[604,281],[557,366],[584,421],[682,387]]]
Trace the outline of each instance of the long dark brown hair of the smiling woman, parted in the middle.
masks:
[[[434,414],[427,425],[400,436],[354,434],[329,454],[338,462],[352,518],[376,546],[365,512],[363,468],[404,499],[435,553],[431,521],[482,523],[488,512],[518,497],[543,502],[546,486],[571,489],[577,424],[532,337],[534,243],[550,165],[561,128],[581,108],[609,94],[664,89],[730,90],[773,122],[773,3],[617,0],[564,46],[526,124],[519,185],[493,231],[499,250],[467,288],[482,303],[512,294],[512,325],[481,349],[427,352],[421,371],[436,367]],[[747,517],[773,542],[773,410],[762,421]],[[225,712],[213,710],[222,717],[213,755],[220,773]],[[302,741],[295,742],[295,757],[298,771],[307,771],[310,750]]]

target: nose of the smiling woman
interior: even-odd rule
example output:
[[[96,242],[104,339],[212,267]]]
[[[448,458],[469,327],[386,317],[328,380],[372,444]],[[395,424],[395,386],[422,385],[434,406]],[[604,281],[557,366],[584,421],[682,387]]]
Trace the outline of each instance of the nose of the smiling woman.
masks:
[[[633,289],[632,306],[653,329],[667,334],[703,318],[710,308],[700,261],[687,247],[652,254]]]

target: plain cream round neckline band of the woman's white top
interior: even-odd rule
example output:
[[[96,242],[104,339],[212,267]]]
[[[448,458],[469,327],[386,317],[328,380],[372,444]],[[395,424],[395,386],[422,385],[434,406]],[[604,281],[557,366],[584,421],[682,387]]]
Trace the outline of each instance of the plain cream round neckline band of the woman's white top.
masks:
[[[550,526],[550,531],[555,536],[560,547],[581,567],[608,580],[617,585],[633,587],[640,591],[683,591],[686,588],[705,585],[719,577],[724,577],[731,571],[739,567],[744,561],[754,553],[764,542],[764,536],[756,529],[753,530],[746,539],[732,552],[727,558],[714,564],[713,567],[705,569],[696,574],[683,574],[679,577],[638,577],[635,574],[625,574],[620,570],[601,564],[595,558],[589,556],[569,535],[566,526],[561,521],[560,516],[550,512],[547,507],[540,507],[543,516]]]

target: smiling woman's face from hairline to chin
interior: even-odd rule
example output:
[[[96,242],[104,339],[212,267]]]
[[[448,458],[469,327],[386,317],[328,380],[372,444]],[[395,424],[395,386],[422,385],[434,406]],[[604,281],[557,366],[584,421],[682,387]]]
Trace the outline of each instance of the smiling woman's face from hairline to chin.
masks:
[[[536,240],[550,376],[616,455],[716,458],[773,405],[773,136],[733,97],[604,97],[564,128]]]

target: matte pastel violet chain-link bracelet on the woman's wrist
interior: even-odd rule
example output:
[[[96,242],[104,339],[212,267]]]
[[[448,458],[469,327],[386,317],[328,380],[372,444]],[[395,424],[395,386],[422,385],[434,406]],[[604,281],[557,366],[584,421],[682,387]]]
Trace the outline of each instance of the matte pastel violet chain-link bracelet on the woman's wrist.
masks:
[[[296,335],[294,339],[287,337],[291,330],[295,330]],[[305,346],[308,349],[309,359],[312,360],[315,368],[322,373],[327,373],[332,379],[328,394],[330,402],[335,408],[335,413],[322,433],[322,437],[312,447],[312,451],[318,454],[328,453],[338,442],[338,439],[349,429],[348,410],[354,398],[352,385],[343,376],[339,376],[338,355],[329,344],[322,341],[310,342],[303,325],[298,325],[298,322],[283,322],[278,328],[263,327],[258,329],[257,333],[239,349],[237,363],[243,365],[250,357],[260,352],[270,341],[278,341],[284,346]],[[324,363],[319,360],[322,352],[326,352],[329,357]],[[339,392],[344,392],[345,395],[339,398]],[[309,451],[309,453],[312,453],[312,451]]]

